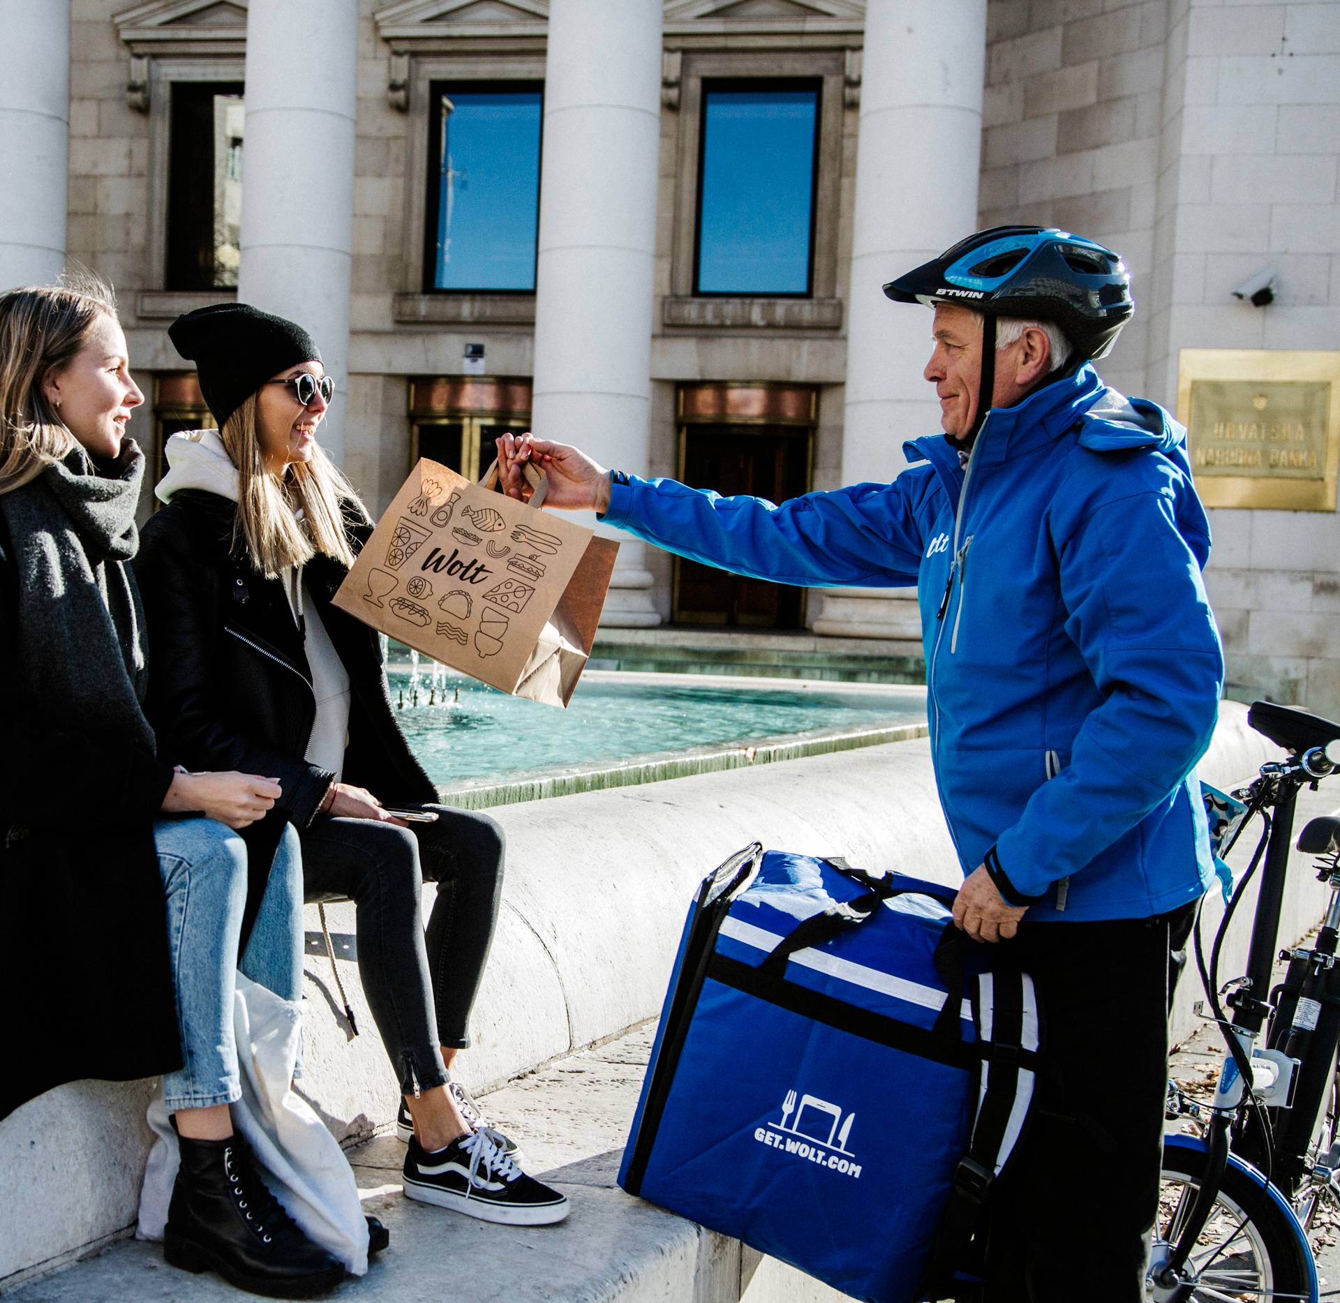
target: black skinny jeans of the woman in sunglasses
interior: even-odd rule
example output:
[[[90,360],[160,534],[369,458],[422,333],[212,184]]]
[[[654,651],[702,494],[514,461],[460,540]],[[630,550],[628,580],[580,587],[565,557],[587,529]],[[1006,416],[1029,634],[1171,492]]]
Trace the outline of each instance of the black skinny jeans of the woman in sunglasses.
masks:
[[[300,834],[303,897],[356,905],[358,973],[403,1094],[445,1083],[438,1046],[469,1020],[503,898],[503,830],[488,815],[423,806],[437,823],[316,822]],[[423,934],[423,882],[437,899]]]

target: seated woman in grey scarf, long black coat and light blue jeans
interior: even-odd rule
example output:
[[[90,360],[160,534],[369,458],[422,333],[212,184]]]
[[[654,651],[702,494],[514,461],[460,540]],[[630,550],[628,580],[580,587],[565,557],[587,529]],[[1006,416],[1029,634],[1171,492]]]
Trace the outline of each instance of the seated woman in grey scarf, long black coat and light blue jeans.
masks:
[[[181,1138],[165,1252],[280,1298],[343,1267],[288,1219],[233,1135],[233,975],[292,1000],[302,881],[276,839],[248,909],[271,769],[186,773],[145,712],[127,562],[143,402],[109,287],[0,295],[0,989],[20,992],[0,1117],[62,1082],[162,1072]],[[15,1027],[17,1021],[17,1027]]]

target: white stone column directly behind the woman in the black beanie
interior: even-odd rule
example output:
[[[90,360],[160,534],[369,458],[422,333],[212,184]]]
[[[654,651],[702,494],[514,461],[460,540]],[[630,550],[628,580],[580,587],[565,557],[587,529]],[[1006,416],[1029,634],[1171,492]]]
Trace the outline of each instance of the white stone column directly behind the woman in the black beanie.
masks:
[[[251,0],[237,298],[304,326],[335,379],[344,460],[358,0]]]

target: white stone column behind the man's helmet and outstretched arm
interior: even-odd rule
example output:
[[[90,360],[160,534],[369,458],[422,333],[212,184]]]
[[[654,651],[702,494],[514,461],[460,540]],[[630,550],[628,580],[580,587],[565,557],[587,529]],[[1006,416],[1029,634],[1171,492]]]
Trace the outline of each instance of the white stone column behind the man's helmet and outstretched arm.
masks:
[[[986,0],[870,0],[856,142],[856,216],[847,296],[844,484],[891,480],[906,438],[939,429],[922,379],[930,311],[883,284],[977,229]],[[907,597],[825,594],[815,630],[919,638]]]

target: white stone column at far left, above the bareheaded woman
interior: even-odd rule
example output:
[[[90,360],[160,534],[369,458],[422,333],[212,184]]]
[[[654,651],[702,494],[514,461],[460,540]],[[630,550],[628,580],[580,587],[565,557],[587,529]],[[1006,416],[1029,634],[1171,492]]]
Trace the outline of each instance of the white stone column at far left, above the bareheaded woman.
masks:
[[[0,290],[12,290],[66,265],[70,0],[0,0]]]

